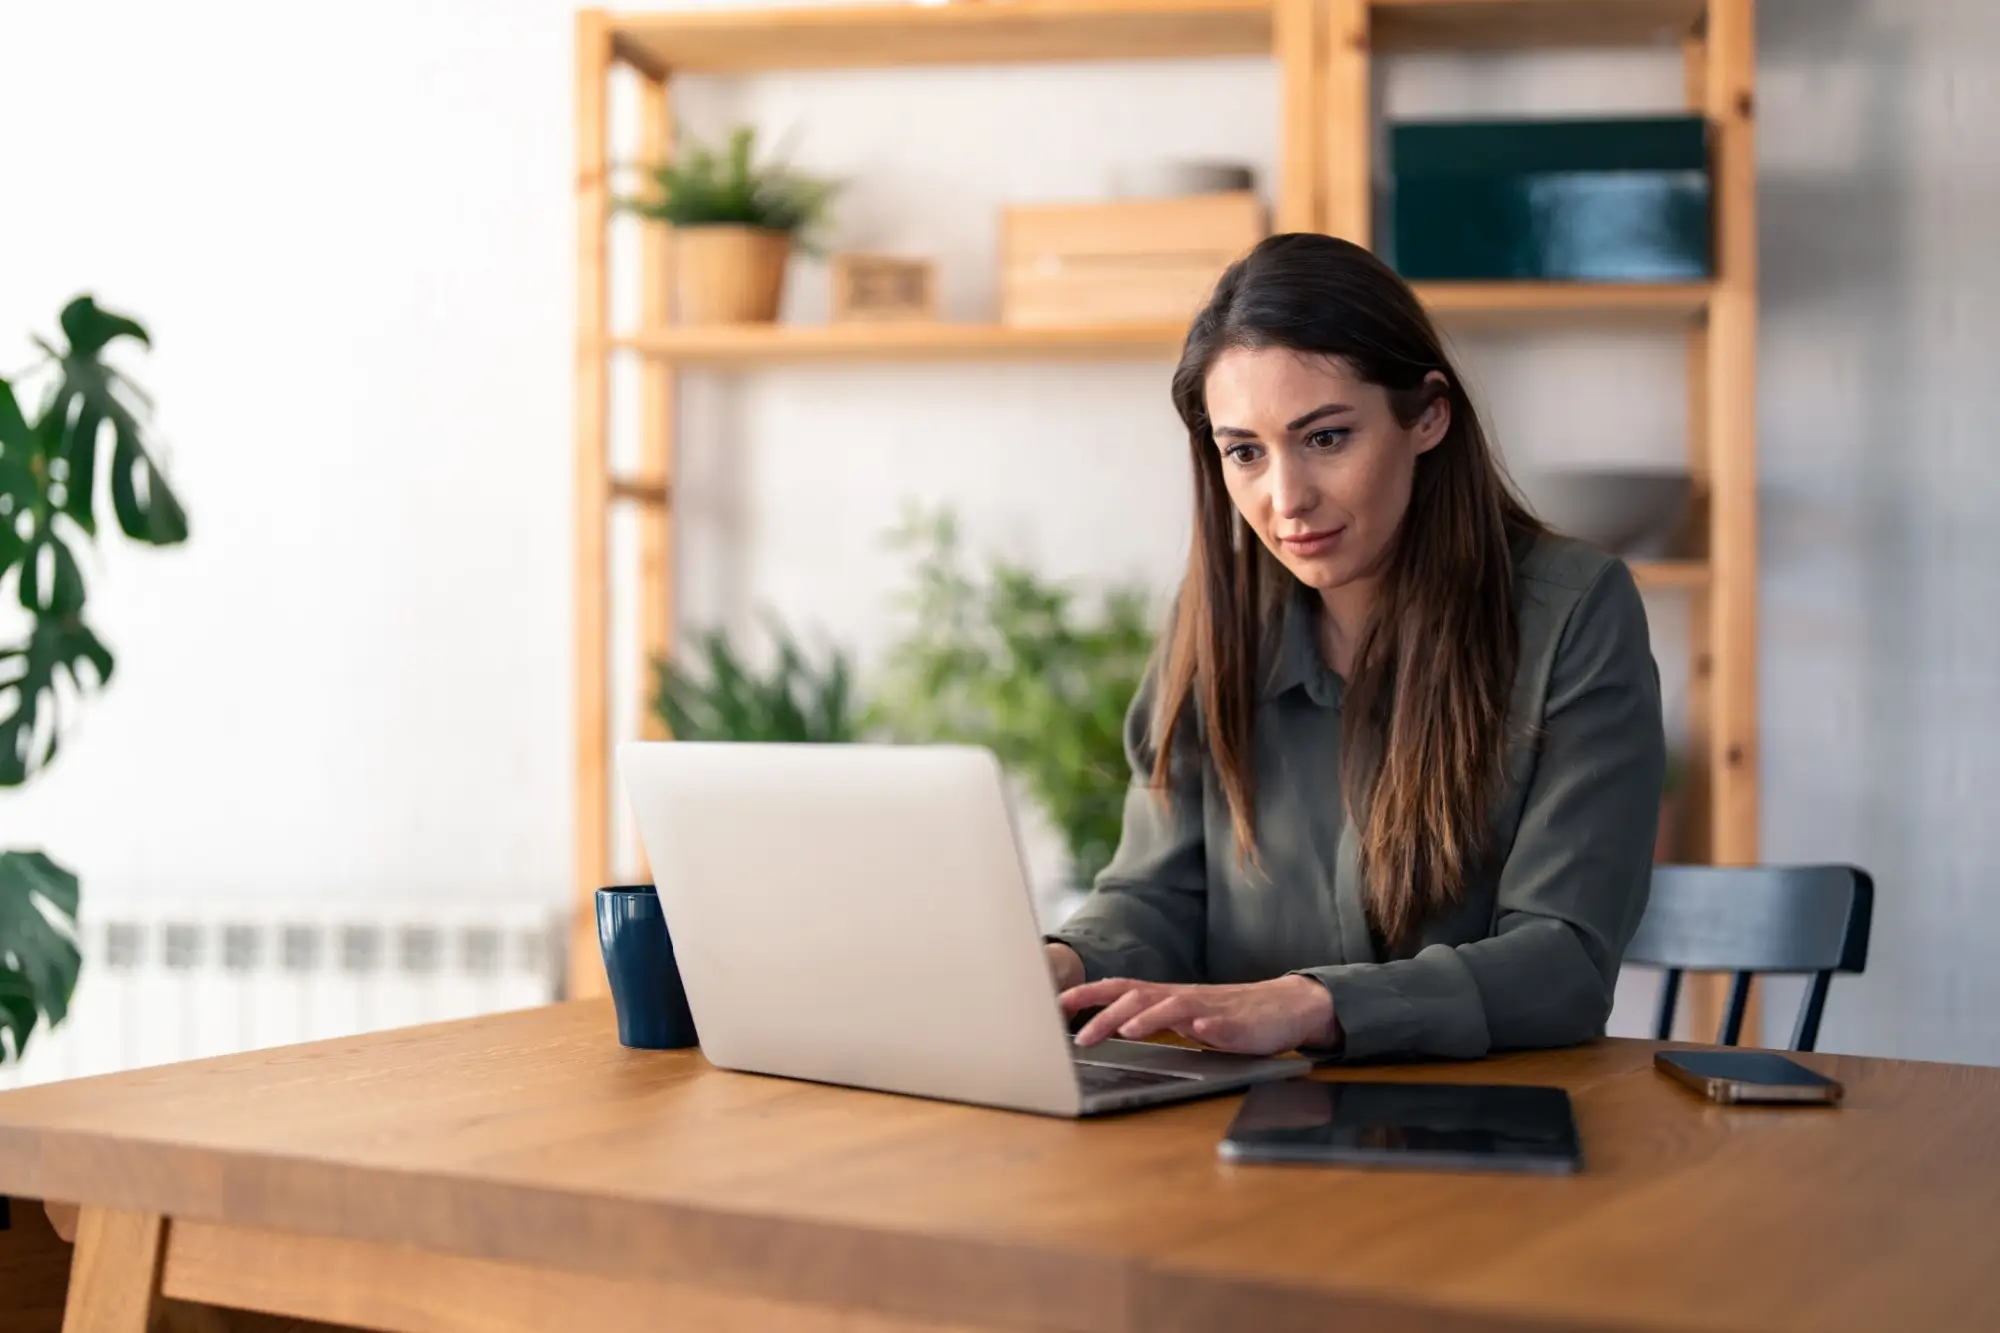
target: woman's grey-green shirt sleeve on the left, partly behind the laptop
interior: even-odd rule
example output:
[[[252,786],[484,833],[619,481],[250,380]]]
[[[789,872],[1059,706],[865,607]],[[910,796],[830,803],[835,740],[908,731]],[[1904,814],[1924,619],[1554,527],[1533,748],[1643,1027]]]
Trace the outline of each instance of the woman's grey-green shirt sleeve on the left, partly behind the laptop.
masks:
[[[1084,979],[1200,981],[1208,933],[1208,853],[1202,837],[1202,755],[1194,727],[1174,739],[1174,775],[1152,787],[1152,713],[1158,671],[1126,711],[1118,853],[1082,907],[1048,939],[1076,951]]]

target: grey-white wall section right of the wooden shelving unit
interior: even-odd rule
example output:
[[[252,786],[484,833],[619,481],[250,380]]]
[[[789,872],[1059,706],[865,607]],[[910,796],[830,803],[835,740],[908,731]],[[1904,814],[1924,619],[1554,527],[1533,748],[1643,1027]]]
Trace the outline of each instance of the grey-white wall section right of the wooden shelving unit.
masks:
[[[1826,1045],[2000,1063],[2000,10],[1760,38],[1764,851],[1876,873]]]

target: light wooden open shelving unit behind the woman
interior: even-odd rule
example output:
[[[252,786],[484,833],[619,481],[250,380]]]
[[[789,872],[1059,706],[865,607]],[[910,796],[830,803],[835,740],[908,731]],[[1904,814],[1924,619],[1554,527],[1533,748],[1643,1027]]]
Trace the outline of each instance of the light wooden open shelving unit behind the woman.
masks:
[[[576,889],[572,991],[602,989],[590,893],[610,881],[610,604],[606,520],[640,510],[640,654],[672,650],[674,388],[680,368],[814,362],[1170,360],[1182,328],[1000,324],[672,326],[666,236],[642,244],[640,332],[608,324],[608,78],[640,78],[642,160],[670,150],[670,76],[788,68],[1272,56],[1280,82],[1274,222],[1370,240],[1372,58],[1400,50],[1672,44],[1714,146],[1716,274],[1688,284],[1422,284],[1448,328],[1686,330],[1688,460],[1702,554],[1634,562],[1692,604],[1692,855],[1756,861],[1756,176],[1754,0],[964,0],[576,20]],[[640,362],[640,466],[608,466],[610,358]],[[646,673],[642,671],[644,679]],[[644,709],[642,709],[644,717]],[[650,723],[648,723],[650,727]],[[1696,1021],[1700,1021],[1696,989]],[[1718,1005],[1710,999],[1710,1005]]]

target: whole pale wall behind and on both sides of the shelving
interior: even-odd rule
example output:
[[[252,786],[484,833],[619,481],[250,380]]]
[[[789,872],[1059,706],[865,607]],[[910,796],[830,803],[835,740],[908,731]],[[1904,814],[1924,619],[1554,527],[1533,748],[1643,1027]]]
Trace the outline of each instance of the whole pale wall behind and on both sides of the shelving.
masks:
[[[176,895],[560,899],[570,6],[14,0],[6,34],[32,58],[0,82],[0,366],[74,290],[144,316],[196,536],[106,548],[120,681],[44,783],[0,797],[0,845]],[[2000,1061],[2000,18],[1764,0],[1760,38],[1766,853],[1878,873],[1874,967],[1836,985],[1828,1045]],[[1678,88],[1674,56],[1426,58],[1386,100]],[[1258,60],[702,80],[682,108],[796,126],[802,164],[852,178],[832,240],[936,254],[954,316],[990,310],[1000,202],[1274,148]],[[824,312],[816,266],[790,312]],[[1516,460],[1678,454],[1672,340],[1464,352]],[[880,646],[900,566],[878,538],[908,498],[1090,578],[1164,584],[1184,540],[1156,368],[698,376],[682,428],[694,624],[768,606]],[[1670,600],[1656,632],[1678,711]]]

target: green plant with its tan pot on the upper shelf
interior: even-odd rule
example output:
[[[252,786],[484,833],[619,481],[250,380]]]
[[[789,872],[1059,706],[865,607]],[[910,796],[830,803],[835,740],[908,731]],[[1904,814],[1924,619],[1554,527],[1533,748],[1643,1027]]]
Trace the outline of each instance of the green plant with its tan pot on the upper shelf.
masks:
[[[778,318],[794,246],[826,216],[838,186],[782,164],[754,164],[756,130],[738,126],[716,152],[690,142],[646,168],[648,190],[620,208],[674,228],[674,300],[682,324]]]

